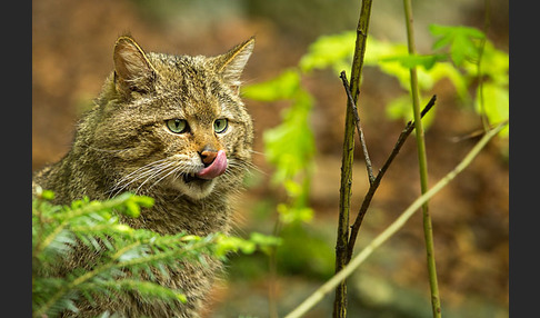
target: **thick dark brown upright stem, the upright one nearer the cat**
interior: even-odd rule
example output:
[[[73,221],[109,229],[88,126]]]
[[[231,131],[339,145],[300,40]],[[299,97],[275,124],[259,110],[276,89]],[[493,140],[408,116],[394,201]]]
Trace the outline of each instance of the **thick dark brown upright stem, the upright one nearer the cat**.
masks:
[[[360,10],[360,18],[357,27],[357,40],[354,56],[352,58],[350,91],[353,101],[358,100],[360,93],[360,80],[363,67],[363,56],[366,53],[366,40],[368,37],[368,26],[371,16],[371,0],[363,0]],[[348,261],[348,240],[349,240],[349,211],[352,186],[352,159],[354,150],[354,116],[353,103],[347,102],[346,127],[343,137],[343,153],[341,157],[341,182],[339,190],[339,220],[338,238],[336,242],[336,272],[339,272]],[[347,316],[347,285],[342,280],[336,288],[336,300],[333,304],[333,317]]]

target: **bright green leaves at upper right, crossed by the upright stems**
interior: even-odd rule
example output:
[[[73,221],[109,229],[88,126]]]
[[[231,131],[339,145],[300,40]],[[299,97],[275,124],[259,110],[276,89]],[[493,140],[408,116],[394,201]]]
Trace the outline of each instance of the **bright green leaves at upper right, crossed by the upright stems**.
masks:
[[[421,105],[426,105],[430,96],[426,92],[443,80],[449,80],[463,106],[473,105],[473,109],[482,115],[486,112],[490,122],[501,122],[509,117],[508,92],[508,53],[493,47],[482,31],[462,26],[431,24],[429,31],[436,38],[432,53],[408,53],[404,43],[380,41],[372,36],[368,38],[364,66],[377,67],[382,72],[394,77],[400,86],[410,95],[409,69],[418,68],[418,81],[424,93]],[[302,57],[300,68],[304,72],[314,69],[332,69],[339,73],[347,69],[352,60],[354,49],[354,31],[333,36],[322,36],[308,49]],[[481,69],[486,64],[489,68]],[[483,81],[478,85],[479,79]],[[469,89],[476,85],[476,97],[471,98]],[[480,98],[483,96],[483,100]],[[482,106],[483,103],[483,106]],[[434,111],[424,118],[427,127],[434,118]],[[401,118],[406,121],[412,118],[409,96],[393,99],[387,105],[387,115],[391,119]],[[508,128],[501,132],[508,136]]]

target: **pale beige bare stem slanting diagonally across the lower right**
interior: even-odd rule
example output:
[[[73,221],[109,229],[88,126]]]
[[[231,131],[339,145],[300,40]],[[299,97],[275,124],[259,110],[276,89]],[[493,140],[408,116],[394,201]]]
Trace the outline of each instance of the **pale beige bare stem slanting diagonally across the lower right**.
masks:
[[[300,304],[294,310],[292,310],[284,318],[299,318],[308,312],[313,306],[316,306],[328,292],[330,292],[340,281],[349,277],[377,248],[383,242],[390,239],[404,223],[419,210],[419,208],[431,199],[442,188],[448,186],[461,171],[463,171],[472,160],[480,153],[486,147],[489,140],[493,138],[499,131],[501,131],[508,121],[502,122],[496,129],[488,131],[480,141],[467,153],[456,168],[453,168],[447,176],[440,179],[431,189],[414,200],[399,217],[393,221],[384,231],[378,235],[371,242],[359,252],[341,271],[336,274],[330,280],[324,282],[319,289],[317,289],[310,297],[308,297],[302,304]]]

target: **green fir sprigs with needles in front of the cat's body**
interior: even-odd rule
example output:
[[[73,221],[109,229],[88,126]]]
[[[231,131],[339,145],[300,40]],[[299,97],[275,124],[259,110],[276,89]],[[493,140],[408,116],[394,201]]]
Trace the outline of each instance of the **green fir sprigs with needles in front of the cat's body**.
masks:
[[[180,266],[179,260],[203,264],[204,256],[252,254],[279,244],[279,239],[260,233],[252,233],[248,240],[222,233],[159,235],[120,222],[119,213],[136,218],[141,208],[151,207],[153,199],[149,197],[123,193],[106,201],[84,198],[70,206],[52,205],[53,197],[51,191],[39,190],[32,201],[34,317],[77,312],[78,299],[93,301],[127,292],[137,292],[148,301],[186,301],[181,290],[154,282],[156,276],[167,276],[167,268]],[[84,268],[73,269],[70,261],[80,249],[93,251],[94,257]],[[66,268],[68,271],[62,272]]]

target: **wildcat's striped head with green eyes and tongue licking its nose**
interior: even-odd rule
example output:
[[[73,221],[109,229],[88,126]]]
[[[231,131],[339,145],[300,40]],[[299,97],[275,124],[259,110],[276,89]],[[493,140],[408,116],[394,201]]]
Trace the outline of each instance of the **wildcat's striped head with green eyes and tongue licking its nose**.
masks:
[[[190,57],[117,40],[93,138],[113,153],[112,192],[168,188],[202,199],[239,186],[253,139],[239,86],[253,46],[251,38],[217,57]]]

